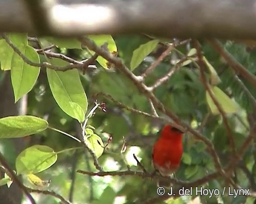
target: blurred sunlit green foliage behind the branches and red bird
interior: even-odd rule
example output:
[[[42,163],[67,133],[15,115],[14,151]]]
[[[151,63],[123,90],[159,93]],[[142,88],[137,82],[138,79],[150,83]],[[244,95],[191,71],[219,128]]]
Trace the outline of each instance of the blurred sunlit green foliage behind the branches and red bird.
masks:
[[[150,41],[144,35],[115,35],[112,36],[118,50],[118,56],[121,57],[124,64],[130,68],[130,62],[134,56],[134,50],[140,45]],[[1,39],[0,41],[3,41]],[[72,49],[74,43],[60,42],[49,39],[40,40],[43,47],[47,47],[52,43],[58,47],[51,49],[52,52],[62,53],[72,59],[81,61],[90,58],[91,53],[84,49]],[[162,55],[166,49],[166,42],[172,42],[171,39],[162,39],[156,45],[152,52],[144,56],[143,62],[134,68],[132,71],[135,75],[141,75],[144,71]],[[69,42],[69,41],[68,41]],[[217,54],[207,41],[200,41],[202,45],[202,53],[208,59],[209,63],[214,67],[221,79],[218,87],[230,98],[234,99],[239,106],[236,107],[236,112],[227,115],[230,129],[235,141],[235,149],[238,151],[244,141],[248,138],[249,130],[255,124],[256,106],[251,101],[245,89],[235,80],[232,74],[232,69],[229,69],[228,63]],[[255,50],[248,45],[236,43],[234,41],[222,41],[224,48],[232,54],[232,56],[241,63],[250,73],[255,75]],[[36,41],[28,41],[35,49],[40,49]],[[70,45],[72,45],[70,47]],[[75,44],[76,45],[76,44]],[[80,45],[80,44],[79,44]],[[78,47],[79,47],[78,45]],[[38,47],[39,46],[39,47]],[[76,48],[78,48],[76,47]],[[168,53],[167,57],[161,61],[153,73],[146,77],[145,84],[151,85],[161,76],[165,75],[170,68],[176,65],[177,60],[183,59],[184,56],[194,47],[191,41],[187,41],[184,45],[177,46]],[[2,49],[2,53],[6,50]],[[93,54],[93,53],[92,53]],[[29,56],[27,56],[29,57]],[[0,58],[1,68],[2,59]],[[40,61],[46,62],[43,53],[40,54]],[[146,117],[142,114],[134,113],[127,108],[120,108],[115,102],[98,94],[111,95],[115,100],[118,100],[124,106],[131,107],[143,112],[152,113],[148,98],[142,94],[134,85],[134,83],[126,77],[115,66],[110,66],[110,69],[103,68],[98,62],[95,62],[97,69],[88,69],[84,75],[80,72],[80,80],[88,98],[90,110],[94,106],[95,99],[98,102],[106,103],[107,112],[96,110],[96,114],[90,118],[88,124],[95,128],[95,133],[100,135],[103,142],[108,141],[108,134],[111,134],[113,139],[108,145],[108,149],[99,157],[99,163],[104,168],[104,171],[126,171],[127,164],[132,171],[141,171],[133,158],[133,154],[137,156],[140,163],[144,165],[148,172],[152,172],[151,166],[151,148],[157,138],[157,133],[160,128],[166,123],[152,117]],[[223,118],[220,115],[213,115],[210,111],[206,100],[206,90],[201,82],[200,69],[197,59],[193,59],[191,63],[182,66],[175,71],[161,86],[154,90],[155,96],[160,100],[166,108],[176,114],[180,120],[189,124],[193,129],[198,129],[204,137],[212,141],[214,149],[220,157],[220,163],[224,166],[234,157],[228,140],[228,132],[223,123]],[[12,69],[12,68],[11,68]],[[10,81],[9,71],[0,71],[0,86],[4,86],[7,81]],[[206,69],[208,80],[211,80],[211,72]],[[238,75],[240,77],[240,75]],[[247,80],[243,80],[246,88],[254,96],[255,87]],[[72,84],[70,84],[72,86]],[[7,90],[6,90],[7,91]],[[12,96],[13,99],[14,96]],[[79,123],[65,114],[55,102],[46,77],[46,69],[40,70],[38,80],[34,84],[33,89],[28,92],[26,98],[26,114],[45,118],[51,127],[60,129],[71,135],[79,137]],[[218,98],[218,100],[221,100]],[[13,104],[13,101],[9,101]],[[224,101],[225,103],[225,101]],[[228,102],[229,103],[229,102]],[[21,100],[18,102],[19,109],[22,109]],[[1,106],[1,108],[5,108]],[[168,119],[167,116],[158,112],[159,116]],[[4,116],[18,115],[6,113]],[[108,134],[106,134],[108,133]],[[124,157],[120,151],[123,146],[123,137],[126,140],[127,150]],[[22,149],[35,145],[47,145],[58,152],[63,149],[78,147],[79,144],[69,137],[64,137],[61,133],[46,129],[41,133],[33,136],[23,137]],[[18,150],[9,139],[0,140],[1,153],[4,155],[8,163],[15,169],[15,159]],[[21,144],[21,143],[20,143]],[[230,177],[241,188],[250,188],[251,192],[256,190],[255,184],[255,146],[254,141],[244,151],[242,160],[236,165]],[[124,159],[125,158],[125,159]],[[50,190],[54,190],[61,194],[72,203],[115,203],[115,204],[130,204],[130,203],[188,203],[196,197],[181,196],[173,200],[161,199],[156,194],[156,183],[148,178],[140,178],[136,176],[88,176],[76,173],[77,169],[84,171],[97,172],[90,154],[84,150],[78,149],[68,151],[58,155],[57,162],[37,175],[43,180],[51,180]],[[214,159],[208,152],[205,143],[195,139],[191,133],[187,132],[184,137],[184,154],[180,169],[176,173],[178,180],[195,181],[205,177],[209,173],[215,172]],[[31,186],[26,179],[24,184]],[[216,180],[205,180],[203,185],[205,188],[218,188],[221,192],[225,186],[230,186],[224,177],[219,177]],[[33,186],[34,187],[34,186]],[[3,188],[3,187],[1,187]],[[58,199],[52,196],[42,194],[33,194],[36,202],[40,203],[58,203]],[[157,198],[157,200],[154,200]],[[151,200],[152,199],[152,200]],[[165,200],[165,201],[164,201]],[[196,201],[194,201],[196,202]],[[246,203],[254,202],[254,198],[249,196],[237,196],[233,198],[225,194],[224,196],[209,198],[208,196],[200,196],[201,203]],[[28,203],[26,197],[23,203]]]

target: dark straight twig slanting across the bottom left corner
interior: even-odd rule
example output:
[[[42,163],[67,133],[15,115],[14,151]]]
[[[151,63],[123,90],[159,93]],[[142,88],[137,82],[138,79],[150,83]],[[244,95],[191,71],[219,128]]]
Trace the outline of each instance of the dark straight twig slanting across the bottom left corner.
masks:
[[[4,156],[2,155],[2,153],[0,152],[0,163],[3,165],[3,167],[5,168],[5,171],[7,171],[6,173],[8,174],[8,176],[20,187],[20,189],[24,192],[24,194],[26,194],[26,196],[28,197],[28,200],[30,200],[30,202],[32,204],[36,204],[34,198],[31,196],[31,194],[28,192],[28,190],[26,189],[26,187],[22,184],[22,182],[20,182],[20,180],[18,179],[18,177],[16,176],[16,174],[12,171],[12,169],[10,168],[10,166],[8,165],[8,163],[6,162]]]

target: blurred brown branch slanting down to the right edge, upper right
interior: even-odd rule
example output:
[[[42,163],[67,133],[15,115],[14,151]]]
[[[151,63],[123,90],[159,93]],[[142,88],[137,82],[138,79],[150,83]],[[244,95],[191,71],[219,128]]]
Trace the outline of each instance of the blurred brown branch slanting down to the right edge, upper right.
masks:
[[[243,78],[248,80],[254,87],[256,87],[256,76],[250,73],[243,65],[241,65],[228,51],[226,51],[220,41],[217,39],[210,39],[208,42],[212,45],[212,47],[222,56],[228,65],[234,69],[237,73],[239,73]]]

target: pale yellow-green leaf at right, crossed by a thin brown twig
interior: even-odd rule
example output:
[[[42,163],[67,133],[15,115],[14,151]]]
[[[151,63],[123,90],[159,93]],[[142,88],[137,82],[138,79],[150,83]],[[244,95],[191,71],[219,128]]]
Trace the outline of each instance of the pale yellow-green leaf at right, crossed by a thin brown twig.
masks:
[[[220,88],[217,86],[210,87],[212,90],[216,100],[219,102],[220,106],[226,113],[235,113],[239,108],[239,105],[235,102],[235,100],[230,99]],[[206,101],[212,114],[218,115],[220,114],[218,108],[215,106],[212,98],[210,97],[208,91],[206,91]]]

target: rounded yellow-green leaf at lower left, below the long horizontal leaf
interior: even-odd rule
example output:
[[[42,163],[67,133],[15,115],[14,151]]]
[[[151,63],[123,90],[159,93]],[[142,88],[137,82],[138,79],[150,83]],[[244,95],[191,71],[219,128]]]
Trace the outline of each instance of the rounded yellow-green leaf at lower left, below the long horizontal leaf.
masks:
[[[16,158],[17,175],[39,173],[52,166],[56,160],[56,152],[48,146],[34,145],[28,147]]]

